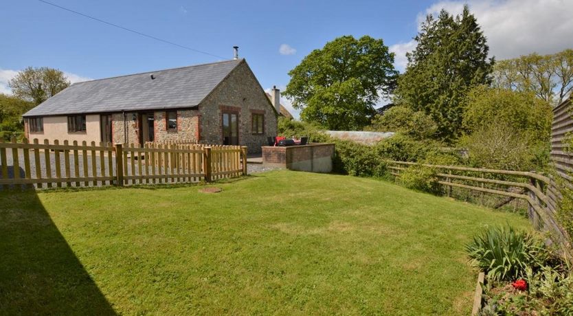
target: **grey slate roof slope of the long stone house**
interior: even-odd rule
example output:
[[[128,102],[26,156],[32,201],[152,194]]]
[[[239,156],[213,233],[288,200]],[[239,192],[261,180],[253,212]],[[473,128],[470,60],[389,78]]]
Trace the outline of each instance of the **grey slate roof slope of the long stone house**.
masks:
[[[78,82],[23,116],[196,106],[244,59]],[[154,80],[150,75],[153,74]]]

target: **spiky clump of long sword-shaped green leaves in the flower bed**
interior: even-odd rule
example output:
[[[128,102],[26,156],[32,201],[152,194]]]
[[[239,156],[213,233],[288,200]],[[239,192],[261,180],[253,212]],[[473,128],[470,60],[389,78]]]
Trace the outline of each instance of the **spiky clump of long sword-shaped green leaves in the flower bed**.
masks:
[[[550,259],[541,238],[513,227],[488,227],[466,245],[471,263],[488,280],[515,280]]]

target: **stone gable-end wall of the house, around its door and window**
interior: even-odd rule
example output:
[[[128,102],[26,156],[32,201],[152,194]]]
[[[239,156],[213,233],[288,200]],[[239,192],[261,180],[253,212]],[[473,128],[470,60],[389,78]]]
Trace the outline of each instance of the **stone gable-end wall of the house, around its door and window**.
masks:
[[[238,113],[239,144],[249,153],[260,153],[268,136],[277,135],[277,117],[271,102],[253,72],[243,62],[199,105],[201,144],[223,144],[223,111]],[[263,113],[264,133],[254,135],[251,114]]]

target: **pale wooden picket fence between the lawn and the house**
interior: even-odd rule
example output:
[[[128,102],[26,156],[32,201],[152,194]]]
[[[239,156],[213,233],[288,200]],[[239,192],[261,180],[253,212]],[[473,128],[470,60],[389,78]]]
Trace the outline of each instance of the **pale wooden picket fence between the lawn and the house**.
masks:
[[[0,188],[210,182],[247,174],[246,161],[244,146],[0,139]]]

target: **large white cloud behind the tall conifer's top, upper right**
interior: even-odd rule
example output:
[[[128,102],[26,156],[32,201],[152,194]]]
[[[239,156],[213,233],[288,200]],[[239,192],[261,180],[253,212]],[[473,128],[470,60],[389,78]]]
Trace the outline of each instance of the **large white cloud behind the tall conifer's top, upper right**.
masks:
[[[462,1],[440,1],[425,14],[445,8],[462,12]],[[552,54],[573,47],[573,1],[571,0],[471,0],[471,12],[488,39],[490,54],[497,60],[537,52]],[[418,14],[418,21],[425,14]]]

